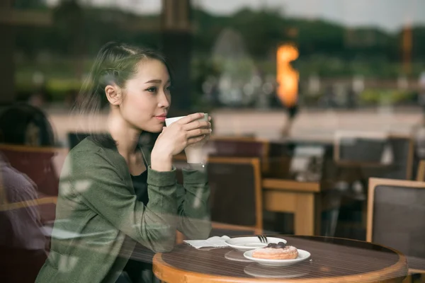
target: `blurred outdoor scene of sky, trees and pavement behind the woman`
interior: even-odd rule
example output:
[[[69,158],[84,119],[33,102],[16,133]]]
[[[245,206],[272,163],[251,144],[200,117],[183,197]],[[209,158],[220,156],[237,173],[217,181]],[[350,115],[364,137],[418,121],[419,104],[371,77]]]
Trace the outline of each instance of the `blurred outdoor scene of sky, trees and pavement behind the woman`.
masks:
[[[67,112],[117,40],[162,50],[177,74],[172,110],[214,112],[217,134],[277,138],[293,105],[298,136],[408,132],[425,88],[423,11],[422,0],[5,0],[1,101]]]

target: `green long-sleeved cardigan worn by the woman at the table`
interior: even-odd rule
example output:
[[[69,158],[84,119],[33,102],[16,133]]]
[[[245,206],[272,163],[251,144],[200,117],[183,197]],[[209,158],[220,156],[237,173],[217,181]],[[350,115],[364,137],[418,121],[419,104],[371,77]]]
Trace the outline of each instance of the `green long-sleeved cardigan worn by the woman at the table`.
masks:
[[[84,139],[72,149],[60,177],[51,250],[36,282],[115,282],[136,242],[155,253],[173,249],[176,230],[208,238],[210,190],[206,174],[150,168],[145,207],[136,200],[130,171],[115,148]]]

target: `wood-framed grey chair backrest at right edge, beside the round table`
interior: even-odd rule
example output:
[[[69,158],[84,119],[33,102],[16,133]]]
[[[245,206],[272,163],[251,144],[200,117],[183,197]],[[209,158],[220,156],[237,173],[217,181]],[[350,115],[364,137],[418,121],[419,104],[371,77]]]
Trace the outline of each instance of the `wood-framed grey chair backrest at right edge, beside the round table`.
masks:
[[[425,258],[425,183],[369,179],[367,241]]]

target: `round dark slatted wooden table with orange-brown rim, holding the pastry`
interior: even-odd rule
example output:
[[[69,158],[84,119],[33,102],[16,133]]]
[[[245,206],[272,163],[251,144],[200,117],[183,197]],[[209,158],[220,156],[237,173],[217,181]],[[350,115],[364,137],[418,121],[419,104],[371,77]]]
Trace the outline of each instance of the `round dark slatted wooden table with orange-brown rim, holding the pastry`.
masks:
[[[154,274],[163,282],[402,282],[407,261],[397,250],[343,238],[276,236],[307,250],[310,259],[289,267],[244,260],[232,248],[197,250],[186,243],[154,255]],[[229,259],[230,258],[230,259]]]

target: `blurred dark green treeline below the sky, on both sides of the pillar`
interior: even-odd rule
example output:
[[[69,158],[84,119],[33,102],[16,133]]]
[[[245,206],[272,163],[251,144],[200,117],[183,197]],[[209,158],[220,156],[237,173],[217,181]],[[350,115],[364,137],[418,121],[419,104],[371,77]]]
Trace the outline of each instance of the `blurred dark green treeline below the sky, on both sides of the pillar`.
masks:
[[[2,0],[0,0],[2,1]],[[79,3],[86,3],[81,6]],[[15,0],[18,9],[50,9],[44,0]],[[55,24],[50,27],[16,27],[15,51],[23,58],[51,54],[64,59],[93,57],[99,47],[110,40],[135,45],[157,47],[161,43],[160,30],[137,30],[132,23],[155,23],[159,15],[138,15],[117,8],[90,6],[87,1],[62,0],[54,10]],[[373,27],[346,28],[327,21],[288,18],[278,8],[242,9],[232,15],[220,16],[193,8],[193,58],[212,57],[222,30],[232,28],[242,35],[245,50],[257,63],[267,64],[273,73],[273,54],[276,47],[288,40],[295,42],[300,58],[294,62],[300,74],[324,76],[352,76],[363,74],[375,77],[396,77],[402,59],[402,34],[388,33]],[[140,21],[139,21],[140,20]],[[413,75],[421,71],[425,61],[425,26],[412,27]],[[22,58],[22,57],[19,57]],[[78,65],[80,64],[80,65]],[[81,62],[76,64],[81,68]],[[38,64],[39,66],[40,64]],[[69,69],[55,66],[58,69]]]

